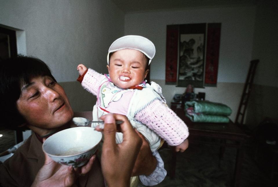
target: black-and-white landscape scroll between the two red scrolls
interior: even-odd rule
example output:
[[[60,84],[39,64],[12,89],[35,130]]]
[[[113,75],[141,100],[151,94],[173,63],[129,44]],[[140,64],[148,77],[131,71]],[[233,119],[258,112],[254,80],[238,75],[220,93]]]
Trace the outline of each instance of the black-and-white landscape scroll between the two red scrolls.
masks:
[[[206,23],[180,25],[177,86],[204,87]]]

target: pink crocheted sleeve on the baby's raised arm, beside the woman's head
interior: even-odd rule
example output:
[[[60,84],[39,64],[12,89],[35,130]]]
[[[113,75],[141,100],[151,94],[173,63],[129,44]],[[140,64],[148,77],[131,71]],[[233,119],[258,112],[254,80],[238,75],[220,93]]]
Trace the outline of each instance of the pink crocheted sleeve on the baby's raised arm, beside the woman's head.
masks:
[[[105,75],[102,75],[93,69],[88,69],[87,73],[85,74],[81,85],[87,91],[91,92],[94,95],[97,95],[98,88],[100,85],[105,81]]]

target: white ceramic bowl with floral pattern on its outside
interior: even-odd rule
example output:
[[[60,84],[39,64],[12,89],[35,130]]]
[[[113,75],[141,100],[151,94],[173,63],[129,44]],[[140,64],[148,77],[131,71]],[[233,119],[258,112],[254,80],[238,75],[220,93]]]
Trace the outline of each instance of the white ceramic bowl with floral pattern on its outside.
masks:
[[[83,166],[94,155],[102,138],[91,127],[73,127],[57,132],[43,143],[43,151],[55,162]]]

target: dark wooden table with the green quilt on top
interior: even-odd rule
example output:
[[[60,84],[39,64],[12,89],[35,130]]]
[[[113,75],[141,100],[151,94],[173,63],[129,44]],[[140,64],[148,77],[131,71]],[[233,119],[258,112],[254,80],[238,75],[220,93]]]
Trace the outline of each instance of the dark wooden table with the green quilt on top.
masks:
[[[189,128],[189,143],[194,141],[197,137],[210,137],[210,138],[217,138],[217,139],[219,138],[221,140],[219,144],[220,148],[224,148],[224,146],[233,146],[237,148],[233,186],[235,187],[239,186],[240,176],[242,171],[242,161],[243,161],[242,147],[247,137],[246,133],[241,128],[239,128],[238,125],[234,124],[231,121],[230,123],[192,122],[190,121],[189,118],[185,116],[185,112],[182,108],[176,107],[174,111],[186,123],[186,125]],[[226,140],[230,140],[230,141],[227,142]],[[175,151],[172,151],[171,164],[173,167],[171,168],[169,175],[171,178],[173,178],[175,176],[175,164],[176,164]]]

